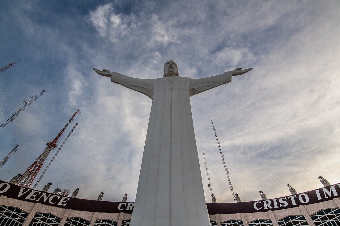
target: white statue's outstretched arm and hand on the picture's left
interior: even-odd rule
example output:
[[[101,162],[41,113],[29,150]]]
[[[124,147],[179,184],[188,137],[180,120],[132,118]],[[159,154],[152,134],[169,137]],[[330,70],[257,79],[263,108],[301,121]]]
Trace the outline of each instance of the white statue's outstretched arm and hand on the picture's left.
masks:
[[[122,75],[118,72],[111,72],[103,69],[103,71],[93,68],[95,72],[100,75],[110,77],[112,82],[120,84],[131,90],[135,90],[142,94],[147,95],[152,99],[153,97],[153,82],[151,79],[133,78],[126,75]]]

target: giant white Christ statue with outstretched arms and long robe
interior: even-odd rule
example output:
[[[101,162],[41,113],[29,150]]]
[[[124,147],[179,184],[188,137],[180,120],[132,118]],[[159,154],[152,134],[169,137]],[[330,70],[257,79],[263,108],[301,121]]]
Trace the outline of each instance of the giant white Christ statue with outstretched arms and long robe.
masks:
[[[140,79],[94,70],[152,99],[130,226],[208,226],[189,97],[231,82],[252,68],[206,78],[179,76],[169,60],[163,78]]]

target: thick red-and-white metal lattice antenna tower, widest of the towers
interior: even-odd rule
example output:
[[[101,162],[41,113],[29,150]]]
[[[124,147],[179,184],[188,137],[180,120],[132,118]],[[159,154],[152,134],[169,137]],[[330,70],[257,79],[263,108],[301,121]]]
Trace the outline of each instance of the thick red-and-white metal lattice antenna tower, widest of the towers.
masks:
[[[43,166],[47,156],[50,154],[51,150],[57,146],[56,143],[57,143],[59,137],[63,134],[63,132],[65,131],[65,129],[68,126],[68,124],[70,124],[70,122],[72,121],[73,117],[78,112],[80,112],[79,109],[75,110],[75,113],[70,118],[68,123],[64,126],[64,128],[60,131],[60,133],[54,138],[54,140],[52,140],[52,141],[50,141],[49,143],[46,144],[47,148],[45,149],[45,151],[43,151],[43,153],[41,153],[39,155],[37,160],[34,161],[34,163],[29,168],[27,168],[26,172],[22,175],[22,177],[16,183],[16,185],[19,185],[21,187],[26,187],[26,188],[29,188],[31,186],[31,184],[32,184],[34,178],[36,177],[36,175],[38,174],[41,166]]]

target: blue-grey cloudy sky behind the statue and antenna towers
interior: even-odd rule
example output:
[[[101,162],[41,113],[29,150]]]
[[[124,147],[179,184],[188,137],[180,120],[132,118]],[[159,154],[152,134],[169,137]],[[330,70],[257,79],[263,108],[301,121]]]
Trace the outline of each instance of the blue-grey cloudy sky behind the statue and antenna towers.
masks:
[[[158,78],[172,59],[191,78],[254,68],[191,98],[207,202],[202,149],[217,201],[233,202],[211,119],[242,201],[259,200],[259,190],[286,196],[288,183],[298,193],[320,188],[319,175],[340,182],[338,0],[3,0],[0,8],[0,64],[20,60],[0,74],[0,120],[46,90],[0,130],[0,158],[19,144],[1,180],[23,173],[80,109],[39,189],[52,182],[50,191],[80,188],[83,199],[134,201],[151,100],[92,68]]]

